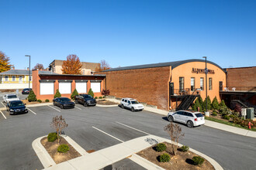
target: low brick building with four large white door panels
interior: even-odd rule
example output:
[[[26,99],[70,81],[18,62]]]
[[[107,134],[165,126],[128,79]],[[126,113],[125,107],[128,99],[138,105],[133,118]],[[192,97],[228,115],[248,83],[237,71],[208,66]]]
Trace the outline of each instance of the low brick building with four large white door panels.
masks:
[[[77,89],[78,93],[88,93],[92,88],[95,97],[100,97],[106,78],[106,75],[57,74],[39,70],[33,70],[32,76],[33,91],[40,100],[54,99],[57,89],[62,97],[71,98],[74,89]]]

